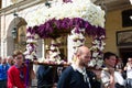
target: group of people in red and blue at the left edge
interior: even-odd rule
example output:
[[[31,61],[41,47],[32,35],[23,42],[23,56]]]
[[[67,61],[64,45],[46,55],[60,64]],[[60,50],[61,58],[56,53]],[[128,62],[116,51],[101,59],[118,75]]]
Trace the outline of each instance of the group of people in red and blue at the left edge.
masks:
[[[21,51],[0,58],[0,88],[30,88],[28,68]]]

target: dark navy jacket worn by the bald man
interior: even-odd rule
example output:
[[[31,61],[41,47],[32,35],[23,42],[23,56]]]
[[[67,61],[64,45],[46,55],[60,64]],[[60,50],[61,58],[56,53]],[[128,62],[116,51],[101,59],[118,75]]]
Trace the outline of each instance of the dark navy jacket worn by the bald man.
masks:
[[[91,88],[100,88],[100,84],[96,80],[96,75],[92,72],[87,70],[87,75],[90,80]],[[85,82],[84,76],[78,72],[74,70],[72,66],[67,67],[59,80],[57,88],[89,88],[88,84]]]

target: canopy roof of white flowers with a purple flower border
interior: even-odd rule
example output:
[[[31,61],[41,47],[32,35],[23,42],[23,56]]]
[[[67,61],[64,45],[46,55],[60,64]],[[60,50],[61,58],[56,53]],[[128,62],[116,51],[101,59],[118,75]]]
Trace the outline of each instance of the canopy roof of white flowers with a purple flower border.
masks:
[[[85,29],[88,35],[105,35],[105,11],[90,0],[52,0],[28,16],[28,31],[40,37],[54,37],[74,28]]]

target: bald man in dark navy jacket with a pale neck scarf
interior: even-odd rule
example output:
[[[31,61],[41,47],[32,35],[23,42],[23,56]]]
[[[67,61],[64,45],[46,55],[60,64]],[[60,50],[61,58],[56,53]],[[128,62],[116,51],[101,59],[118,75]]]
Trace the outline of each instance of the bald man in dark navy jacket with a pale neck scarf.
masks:
[[[74,55],[75,62],[63,72],[57,88],[99,88],[96,75],[86,69],[90,58],[91,53],[87,46],[78,47]]]

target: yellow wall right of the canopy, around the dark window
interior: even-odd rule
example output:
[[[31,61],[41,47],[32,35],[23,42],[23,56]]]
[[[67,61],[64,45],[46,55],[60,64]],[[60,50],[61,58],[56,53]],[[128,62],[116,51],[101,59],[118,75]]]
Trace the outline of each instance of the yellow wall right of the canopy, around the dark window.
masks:
[[[132,7],[130,7],[132,8]],[[117,47],[117,40],[116,40],[116,32],[117,31],[123,31],[123,30],[132,30],[131,28],[122,28],[122,15],[121,12],[123,10],[130,9],[130,8],[124,8],[121,10],[116,10],[116,11],[110,11],[106,13],[106,33],[107,33],[107,38],[106,38],[106,50],[105,51],[110,51],[116,54],[118,54],[118,47]]]

